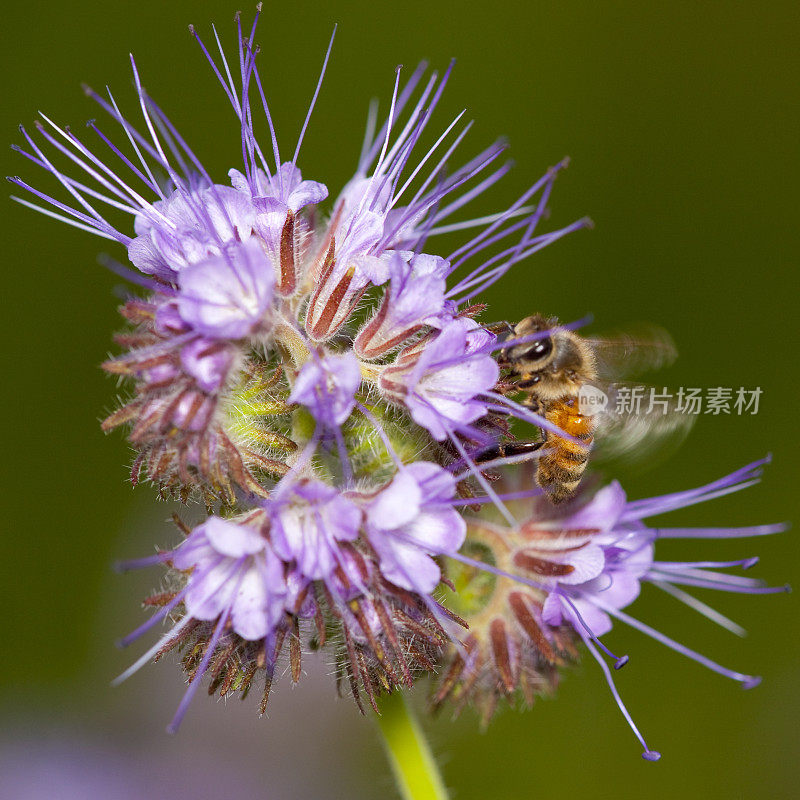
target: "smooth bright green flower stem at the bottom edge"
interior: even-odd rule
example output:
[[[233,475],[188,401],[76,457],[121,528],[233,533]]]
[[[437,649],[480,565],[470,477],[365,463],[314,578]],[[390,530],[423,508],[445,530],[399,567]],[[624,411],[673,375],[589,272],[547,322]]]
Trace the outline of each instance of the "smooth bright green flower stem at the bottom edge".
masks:
[[[439,768],[403,692],[381,698],[383,746],[403,800],[447,800]]]

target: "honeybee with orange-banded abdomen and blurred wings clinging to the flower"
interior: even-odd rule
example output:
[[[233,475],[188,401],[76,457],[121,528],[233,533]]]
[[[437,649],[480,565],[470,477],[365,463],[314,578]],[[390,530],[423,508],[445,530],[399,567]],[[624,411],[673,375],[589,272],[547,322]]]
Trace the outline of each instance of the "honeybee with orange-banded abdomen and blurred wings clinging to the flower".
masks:
[[[645,439],[688,430],[692,417],[678,413],[668,401],[655,409],[645,405],[639,413],[627,415],[615,414],[615,409],[607,406],[585,413],[587,409],[580,402],[587,399],[587,389],[588,397],[594,391],[607,402],[609,395],[625,390],[624,384],[607,379],[670,363],[676,352],[665,331],[647,328],[632,334],[587,338],[561,327],[556,318],[541,314],[526,317],[513,327],[504,325],[504,337],[509,341],[529,339],[500,351],[500,365],[509,373],[506,393],[524,392],[525,406],[571,438],[543,430],[537,441],[494,447],[480,460],[541,450],[536,481],[553,503],[563,503],[575,495],[597,433],[608,433],[615,440],[610,450],[619,453],[638,448]],[[540,332],[544,334],[541,338],[530,340]]]

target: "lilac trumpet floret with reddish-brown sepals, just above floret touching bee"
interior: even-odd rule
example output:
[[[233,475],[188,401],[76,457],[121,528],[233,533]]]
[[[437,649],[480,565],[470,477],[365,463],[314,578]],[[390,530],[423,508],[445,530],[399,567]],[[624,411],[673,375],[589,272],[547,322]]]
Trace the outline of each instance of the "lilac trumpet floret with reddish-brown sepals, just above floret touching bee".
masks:
[[[445,312],[448,266],[437,256],[393,252],[387,264],[389,289],[375,316],[356,337],[356,352],[362,358],[377,358],[423,325],[438,321]]]

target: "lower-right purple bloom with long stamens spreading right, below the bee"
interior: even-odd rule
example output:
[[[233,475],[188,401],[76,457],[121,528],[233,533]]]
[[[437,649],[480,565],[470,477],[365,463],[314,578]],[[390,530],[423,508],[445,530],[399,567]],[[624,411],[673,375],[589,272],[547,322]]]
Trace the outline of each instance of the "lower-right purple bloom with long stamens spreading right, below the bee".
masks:
[[[758,479],[764,463],[755,462],[699,489],[648,500],[628,501],[618,483],[604,487],[588,502],[581,504],[578,499],[567,509],[553,507],[548,501],[536,498],[532,510],[515,528],[499,528],[480,520],[469,523],[468,541],[488,548],[492,557],[489,560],[484,556],[475,561],[456,555],[456,563],[507,578],[497,583],[495,594],[498,597],[490,595],[484,599],[493,609],[504,610],[473,628],[467,641],[473,662],[455,657],[451,667],[453,677],[443,682],[437,702],[442,702],[465,680],[460,676],[475,674],[486,681],[494,680],[501,693],[508,696],[521,688],[530,702],[531,687],[538,685],[539,691],[552,689],[555,683],[552,670],[571,657],[570,640],[577,637],[603,669],[620,710],[644,747],[643,757],[657,760],[660,755],[647,747],[633,723],[602,654],[611,658],[615,669],[624,666],[628,657],[611,653],[599,637],[608,633],[615,621],[623,622],[714,672],[740,682],[745,689],[760,682],[760,678],[720,666],[622,609],[639,596],[643,583],[652,583],[713,622],[741,634],[743,630],[736,623],[679,587],[700,586],[748,594],[786,591],[787,587],[768,587],[756,579],[717,571],[736,566],[746,569],[757,559],[663,562],[654,556],[661,538],[761,536],[784,530],[783,525],[653,529],[643,522],[654,514],[750,486]],[[491,660],[484,653],[487,649]],[[499,683],[492,677],[496,674],[499,674]],[[485,712],[491,713],[493,708],[491,703],[485,706]]]

